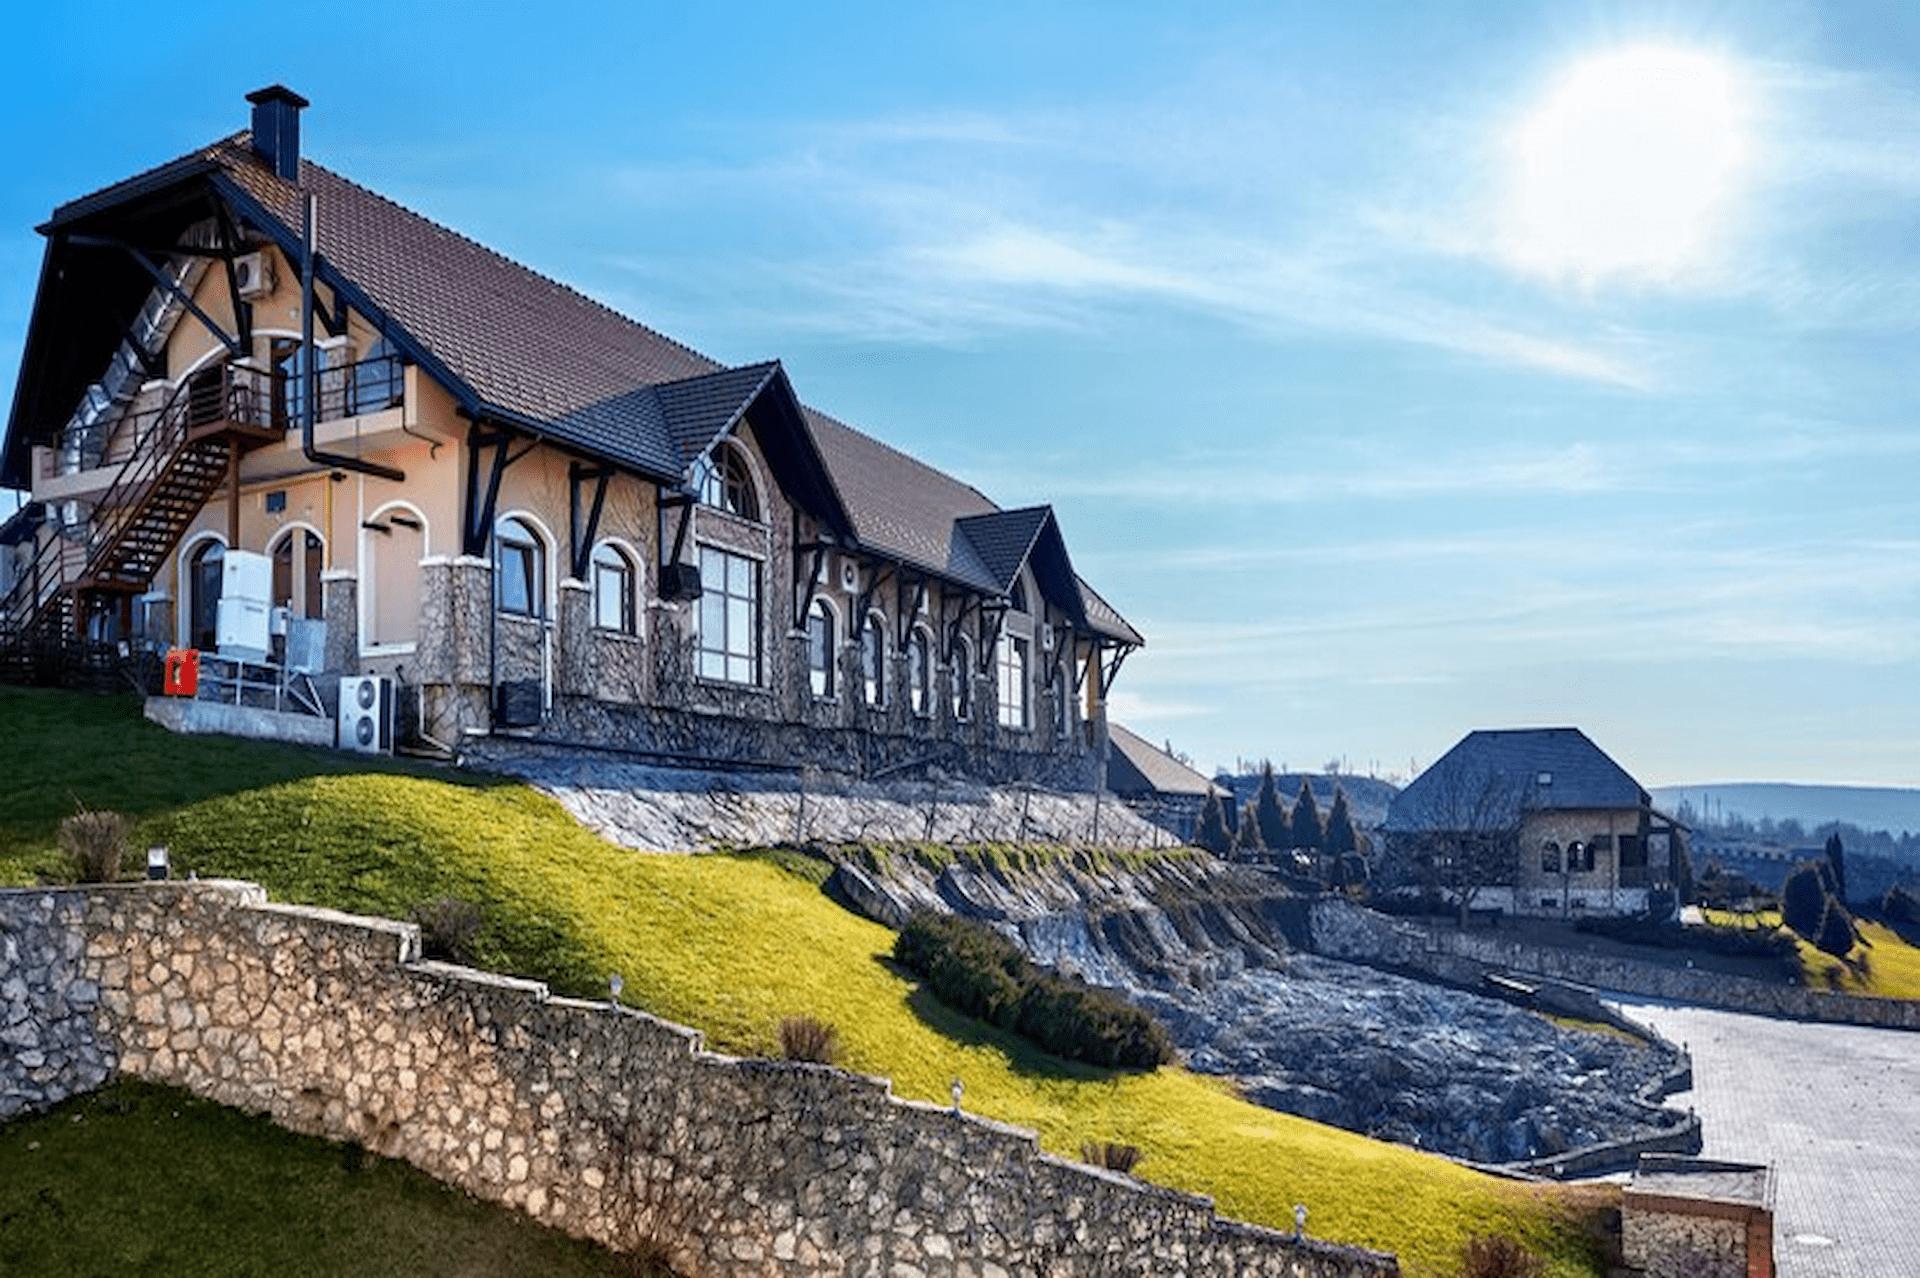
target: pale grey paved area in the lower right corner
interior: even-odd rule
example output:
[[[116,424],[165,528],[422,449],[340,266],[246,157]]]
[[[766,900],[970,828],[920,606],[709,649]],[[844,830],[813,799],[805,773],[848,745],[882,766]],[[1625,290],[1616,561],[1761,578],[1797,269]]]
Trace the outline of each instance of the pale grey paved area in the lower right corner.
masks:
[[[1774,1165],[1780,1278],[1920,1278],[1920,1034],[1611,1002],[1693,1052],[1705,1153]]]

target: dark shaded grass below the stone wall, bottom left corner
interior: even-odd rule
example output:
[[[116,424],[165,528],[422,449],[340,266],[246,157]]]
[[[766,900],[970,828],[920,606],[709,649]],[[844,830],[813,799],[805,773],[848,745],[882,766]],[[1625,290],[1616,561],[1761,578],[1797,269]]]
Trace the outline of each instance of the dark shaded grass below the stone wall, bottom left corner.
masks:
[[[626,1274],[405,1163],[121,1080],[0,1126],[0,1274]]]

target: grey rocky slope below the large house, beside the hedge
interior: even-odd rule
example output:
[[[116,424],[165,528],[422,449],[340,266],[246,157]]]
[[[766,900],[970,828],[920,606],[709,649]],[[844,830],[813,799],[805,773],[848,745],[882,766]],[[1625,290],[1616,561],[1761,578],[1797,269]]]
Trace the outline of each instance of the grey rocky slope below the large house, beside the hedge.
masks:
[[[1670,1052],[1306,954],[1306,902],[1256,869],[1204,856],[851,854],[828,887],[895,925],[920,908],[993,923],[1037,959],[1150,1007],[1192,1067],[1323,1123],[1507,1163],[1680,1121],[1636,1100]]]

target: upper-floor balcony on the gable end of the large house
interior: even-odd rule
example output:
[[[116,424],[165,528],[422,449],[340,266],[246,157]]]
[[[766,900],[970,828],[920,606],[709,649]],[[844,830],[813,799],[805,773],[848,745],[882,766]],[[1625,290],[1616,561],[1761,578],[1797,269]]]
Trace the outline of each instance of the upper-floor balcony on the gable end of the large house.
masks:
[[[397,409],[405,403],[405,367],[397,355],[376,355],[321,368],[315,422],[342,422]],[[282,368],[215,365],[188,374],[161,395],[140,395],[104,422],[69,428],[60,447],[33,451],[36,501],[92,499],[106,491],[129,459],[188,432],[228,432],[253,443],[273,443],[300,426],[303,386]],[[165,420],[163,420],[165,418]]]

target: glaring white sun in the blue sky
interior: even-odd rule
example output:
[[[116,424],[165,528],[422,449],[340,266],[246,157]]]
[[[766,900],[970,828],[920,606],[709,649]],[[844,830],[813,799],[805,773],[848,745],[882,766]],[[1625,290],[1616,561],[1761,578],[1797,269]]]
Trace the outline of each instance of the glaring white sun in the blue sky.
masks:
[[[1634,46],[1576,63],[1511,138],[1509,257],[1582,284],[1697,267],[1747,161],[1747,115],[1715,54]]]

